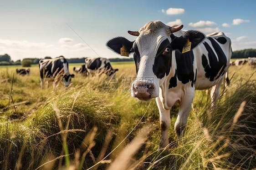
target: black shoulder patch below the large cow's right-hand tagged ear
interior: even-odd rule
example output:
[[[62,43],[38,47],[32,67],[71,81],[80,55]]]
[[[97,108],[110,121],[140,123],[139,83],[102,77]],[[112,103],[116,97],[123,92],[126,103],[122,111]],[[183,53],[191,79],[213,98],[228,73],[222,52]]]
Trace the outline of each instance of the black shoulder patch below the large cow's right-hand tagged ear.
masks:
[[[179,50],[175,50],[175,58],[177,64],[177,77],[183,83],[186,84],[191,81],[191,86],[194,85],[194,54],[193,51],[181,53]]]

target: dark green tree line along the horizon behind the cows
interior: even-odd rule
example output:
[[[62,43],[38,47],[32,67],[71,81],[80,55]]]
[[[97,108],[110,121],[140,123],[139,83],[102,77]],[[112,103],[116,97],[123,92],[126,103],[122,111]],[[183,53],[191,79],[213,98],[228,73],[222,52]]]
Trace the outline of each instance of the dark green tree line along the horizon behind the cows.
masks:
[[[237,50],[233,51],[231,58],[248,58],[248,57],[256,57],[256,49],[245,49],[245,50]],[[51,58],[50,56],[46,56],[44,58]],[[71,58],[67,59],[69,63],[84,63],[84,60],[86,57],[82,58]],[[4,54],[0,55],[0,65],[22,65],[24,67],[29,67],[31,64],[38,64],[40,59],[38,58],[26,58],[22,61],[17,60],[13,61],[11,60],[10,55]],[[109,59],[111,62],[116,61],[133,61],[133,58],[113,58]]]

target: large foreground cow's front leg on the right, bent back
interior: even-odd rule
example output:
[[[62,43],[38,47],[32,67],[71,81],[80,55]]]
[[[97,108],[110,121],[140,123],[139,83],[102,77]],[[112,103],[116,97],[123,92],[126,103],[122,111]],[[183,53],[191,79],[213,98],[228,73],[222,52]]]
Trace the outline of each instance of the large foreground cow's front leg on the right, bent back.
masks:
[[[178,137],[181,136],[182,131],[184,130],[185,125],[187,124],[191,104],[192,104],[193,98],[194,98],[194,94],[195,94],[195,89],[186,90],[186,92],[180,102],[178,117],[174,124],[174,130]]]

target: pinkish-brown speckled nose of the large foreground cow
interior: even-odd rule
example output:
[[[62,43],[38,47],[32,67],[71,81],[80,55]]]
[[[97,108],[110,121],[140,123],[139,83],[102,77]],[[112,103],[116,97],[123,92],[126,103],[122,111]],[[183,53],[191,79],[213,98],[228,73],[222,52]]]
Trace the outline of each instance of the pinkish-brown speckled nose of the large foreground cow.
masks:
[[[150,99],[154,94],[154,84],[148,81],[134,81],[132,86],[134,97],[138,99]]]

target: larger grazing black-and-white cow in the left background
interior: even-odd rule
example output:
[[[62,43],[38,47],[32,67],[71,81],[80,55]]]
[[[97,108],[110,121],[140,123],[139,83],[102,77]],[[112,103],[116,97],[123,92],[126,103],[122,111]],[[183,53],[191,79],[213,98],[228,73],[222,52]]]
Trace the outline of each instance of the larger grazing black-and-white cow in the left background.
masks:
[[[39,72],[42,89],[44,88],[44,82],[48,80],[53,81],[53,87],[55,88],[61,78],[64,86],[69,86],[71,78],[74,77],[73,74],[69,74],[68,62],[63,56],[39,60]]]

